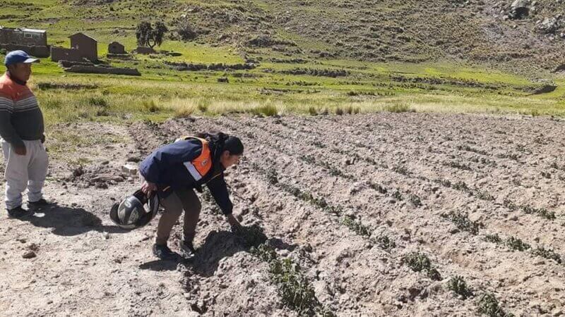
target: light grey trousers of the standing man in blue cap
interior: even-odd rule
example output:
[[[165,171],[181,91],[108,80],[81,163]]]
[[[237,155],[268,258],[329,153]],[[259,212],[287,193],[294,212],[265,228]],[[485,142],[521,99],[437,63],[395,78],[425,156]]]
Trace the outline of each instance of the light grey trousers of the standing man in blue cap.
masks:
[[[14,147],[2,139],[2,154],[6,163],[6,202],[7,209],[22,204],[22,193],[28,188],[28,201],[43,198],[42,189],[47,176],[49,158],[40,140],[23,141],[25,155],[18,155]]]

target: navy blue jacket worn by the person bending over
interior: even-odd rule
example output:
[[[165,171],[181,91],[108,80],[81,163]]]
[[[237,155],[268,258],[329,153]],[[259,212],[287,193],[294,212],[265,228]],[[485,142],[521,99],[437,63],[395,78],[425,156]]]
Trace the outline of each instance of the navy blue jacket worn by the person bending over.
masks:
[[[230,194],[224,180],[225,168],[220,160],[214,157],[215,147],[209,144],[212,156],[212,168],[203,175],[201,180],[194,180],[184,162],[189,162],[200,156],[202,143],[198,139],[186,139],[167,144],[155,150],[139,165],[139,172],[148,182],[157,185],[157,194],[165,198],[174,189],[201,188],[205,185],[210,189],[214,200],[226,216],[233,210]],[[165,190],[164,190],[165,189]]]

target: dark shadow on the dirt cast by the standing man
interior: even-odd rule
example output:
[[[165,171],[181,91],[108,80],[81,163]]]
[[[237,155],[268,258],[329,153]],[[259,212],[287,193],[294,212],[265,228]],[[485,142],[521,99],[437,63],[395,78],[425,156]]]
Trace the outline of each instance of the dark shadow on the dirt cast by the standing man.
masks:
[[[41,228],[53,228],[52,233],[55,235],[81,235],[89,231],[124,233],[128,232],[117,226],[102,225],[102,220],[95,214],[90,213],[82,208],[71,208],[52,204],[34,209],[35,213],[31,216],[21,218],[22,221],[28,221],[32,225]]]

